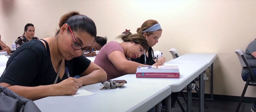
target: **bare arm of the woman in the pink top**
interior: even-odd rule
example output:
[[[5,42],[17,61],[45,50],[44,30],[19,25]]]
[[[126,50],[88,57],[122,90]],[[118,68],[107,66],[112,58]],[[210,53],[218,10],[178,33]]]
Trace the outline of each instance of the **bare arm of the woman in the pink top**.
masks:
[[[110,62],[119,70],[127,74],[134,74],[139,66],[148,66],[137,62],[129,61],[122,51],[116,50],[108,55]]]

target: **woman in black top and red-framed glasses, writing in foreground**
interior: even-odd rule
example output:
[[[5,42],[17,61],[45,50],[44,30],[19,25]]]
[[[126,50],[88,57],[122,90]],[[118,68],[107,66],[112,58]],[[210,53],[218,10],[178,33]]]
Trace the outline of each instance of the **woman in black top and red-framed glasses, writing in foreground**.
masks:
[[[106,80],[106,72],[82,56],[95,41],[93,20],[78,12],[63,15],[53,37],[31,40],[9,58],[0,86],[36,100],[72,95],[82,85]],[[73,78],[80,75],[81,78]]]

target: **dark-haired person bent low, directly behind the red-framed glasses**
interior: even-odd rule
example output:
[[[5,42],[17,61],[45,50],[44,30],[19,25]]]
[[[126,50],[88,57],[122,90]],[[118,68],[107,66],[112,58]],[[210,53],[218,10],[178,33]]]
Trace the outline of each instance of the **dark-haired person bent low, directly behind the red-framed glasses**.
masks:
[[[107,37],[96,36],[95,37],[95,42],[93,42],[91,47],[90,47],[90,51],[92,51],[92,52],[88,53],[88,54],[84,54],[84,56],[86,56],[86,57],[94,57],[94,56],[96,56],[96,52],[95,51],[101,50],[101,48],[106,43],[107,43]]]

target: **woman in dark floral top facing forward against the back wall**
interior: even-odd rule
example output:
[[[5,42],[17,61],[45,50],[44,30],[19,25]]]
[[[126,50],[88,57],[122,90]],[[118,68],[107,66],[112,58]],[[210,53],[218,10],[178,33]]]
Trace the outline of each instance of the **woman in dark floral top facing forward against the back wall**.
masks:
[[[35,35],[35,27],[32,23],[27,23],[24,28],[24,33],[22,36],[18,37],[17,40],[15,41],[16,43],[16,49],[19,48],[22,44],[25,42],[28,42],[32,39],[39,39],[34,36]]]

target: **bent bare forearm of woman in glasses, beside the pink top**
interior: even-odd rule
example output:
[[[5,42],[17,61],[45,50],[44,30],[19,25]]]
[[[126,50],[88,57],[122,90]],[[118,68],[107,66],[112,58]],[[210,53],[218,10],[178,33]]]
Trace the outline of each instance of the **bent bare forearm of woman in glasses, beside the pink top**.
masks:
[[[106,72],[92,62],[90,63],[89,67],[82,74],[80,74],[80,76],[82,77],[80,77],[79,80],[83,83],[83,85],[94,84],[100,82],[101,80],[107,79]]]

